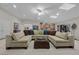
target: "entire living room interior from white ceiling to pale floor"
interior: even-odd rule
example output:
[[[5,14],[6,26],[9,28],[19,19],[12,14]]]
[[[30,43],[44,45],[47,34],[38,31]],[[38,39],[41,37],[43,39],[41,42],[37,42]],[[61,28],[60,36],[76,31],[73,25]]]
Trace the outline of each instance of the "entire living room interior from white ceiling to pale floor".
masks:
[[[79,3],[0,3],[0,54],[79,54],[78,11]]]

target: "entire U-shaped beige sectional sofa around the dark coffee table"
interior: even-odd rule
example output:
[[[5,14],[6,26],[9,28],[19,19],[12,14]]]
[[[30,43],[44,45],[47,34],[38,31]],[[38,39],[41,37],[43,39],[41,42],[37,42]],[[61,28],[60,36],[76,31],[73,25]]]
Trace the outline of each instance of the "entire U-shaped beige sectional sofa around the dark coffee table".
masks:
[[[37,37],[48,39],[56,48],[74,48],[74,38],[70,32],[54,32],[55,35],[44,35],[43,30],[34,30],[33,32],[32,35],[24,35],[24,32],[11,33],[10,35],[7,35],[6,48],[27,48],[31,40]]]

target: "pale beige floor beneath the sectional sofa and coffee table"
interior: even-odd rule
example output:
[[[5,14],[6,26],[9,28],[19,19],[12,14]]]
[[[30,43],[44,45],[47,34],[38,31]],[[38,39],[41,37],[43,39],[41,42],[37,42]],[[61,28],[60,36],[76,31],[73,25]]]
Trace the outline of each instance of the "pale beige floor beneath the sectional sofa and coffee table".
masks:
[[[28,49],[5,49],[5,39],[0,40],[0,55],[78,55],[79,54],[79,41],[75,40],[75,47],[56,49],[50,43],[50,49],[34,49],[34,42],[29,44]]]

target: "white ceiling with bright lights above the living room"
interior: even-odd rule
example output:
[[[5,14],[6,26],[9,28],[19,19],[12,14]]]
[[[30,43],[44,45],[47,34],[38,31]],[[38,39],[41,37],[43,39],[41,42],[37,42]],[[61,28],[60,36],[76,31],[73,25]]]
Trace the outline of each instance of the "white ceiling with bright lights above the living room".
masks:
[[[16,8],[13,8],[14,4]],[[51,20],[52,22],[59,22],[79,16],[79,4],[73,3],[75,7],[70,10],[59,9],[62,5],[63,3],[2,3],[0,8],[22,22],[51,22]],[[42,8],[44,14],[39,16],[34,13],[38,8]],[[53,17],[50,18],[51,16]]]

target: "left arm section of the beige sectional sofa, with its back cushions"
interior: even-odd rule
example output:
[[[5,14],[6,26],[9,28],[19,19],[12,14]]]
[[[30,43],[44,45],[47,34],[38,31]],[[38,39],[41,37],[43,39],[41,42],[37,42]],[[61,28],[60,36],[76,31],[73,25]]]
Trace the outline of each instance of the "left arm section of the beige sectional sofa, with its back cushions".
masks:
[[[24,36],[24,33],[12,33],[6,36],[6,48],[27,48],[31,41],[31,36]]]

